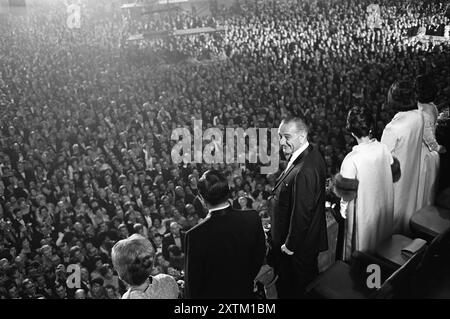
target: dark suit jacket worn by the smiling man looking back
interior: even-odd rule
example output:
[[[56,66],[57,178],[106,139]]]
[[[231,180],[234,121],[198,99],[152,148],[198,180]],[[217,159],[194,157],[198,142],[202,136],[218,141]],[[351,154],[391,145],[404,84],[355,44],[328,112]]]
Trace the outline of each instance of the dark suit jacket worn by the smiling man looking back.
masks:
[[[309,275],[312,268],[317,268],[319,252],[328,248],[325,174],[322,156],[309,145],[293,165],[280,175],[274,187],[272,247],[279,252],[285,244],[294,252],[292,257],[298,274]]]

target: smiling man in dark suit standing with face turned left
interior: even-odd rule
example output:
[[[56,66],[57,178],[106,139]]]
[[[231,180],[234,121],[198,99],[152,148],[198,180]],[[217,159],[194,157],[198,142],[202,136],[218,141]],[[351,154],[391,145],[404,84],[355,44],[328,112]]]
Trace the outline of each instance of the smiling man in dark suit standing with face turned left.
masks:
[[[278,275],[278,297],[301,298],[318,275],[319,252],[328,248],[325,162],[308,143],[308,128],[300,118],[283,120],[278,133],[288,164],[273,189],[270,259]]]

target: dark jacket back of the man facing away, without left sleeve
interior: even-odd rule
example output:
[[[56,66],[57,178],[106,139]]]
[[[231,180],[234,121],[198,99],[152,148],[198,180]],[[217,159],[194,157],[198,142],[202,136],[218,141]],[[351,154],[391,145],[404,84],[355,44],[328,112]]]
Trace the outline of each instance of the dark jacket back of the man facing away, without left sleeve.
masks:
[[[192,298],[254,297],[253,280],[262,261],[258,260],[261,238],[257,227],[262,226],[256,211],[228,208],[212,212],[188,232],[193,242],[202,245],[205,256],[201,274],[204,280]]]

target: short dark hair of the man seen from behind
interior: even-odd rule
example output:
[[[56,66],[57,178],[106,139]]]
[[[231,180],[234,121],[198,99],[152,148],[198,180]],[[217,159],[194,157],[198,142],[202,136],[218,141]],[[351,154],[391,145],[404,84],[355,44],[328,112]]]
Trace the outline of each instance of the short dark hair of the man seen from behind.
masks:
[[[230,198],[228,180],[218,171],[206,171],[198,181],[198,191],[210,205],[218,205]]]

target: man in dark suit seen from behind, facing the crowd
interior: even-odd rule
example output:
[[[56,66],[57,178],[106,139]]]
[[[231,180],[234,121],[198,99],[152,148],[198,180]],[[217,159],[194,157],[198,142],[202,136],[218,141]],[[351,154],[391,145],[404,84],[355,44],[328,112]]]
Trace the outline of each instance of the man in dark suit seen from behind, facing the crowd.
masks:
[[[186,298],[254,298],[266,251],[261,219],[231,208],[228,181],[219,172],[207,171],[198,187],[209,213],[186,233]]]

